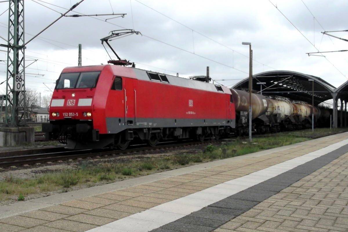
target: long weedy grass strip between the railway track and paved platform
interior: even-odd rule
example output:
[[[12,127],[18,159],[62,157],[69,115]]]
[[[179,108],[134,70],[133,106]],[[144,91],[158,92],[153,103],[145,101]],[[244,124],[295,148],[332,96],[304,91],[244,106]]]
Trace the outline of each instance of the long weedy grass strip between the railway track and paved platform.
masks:
[[[242,139],[235,139],[227,144],[209,144],[202,152],[195,154],[175,154],[166,157],[144,158],[124,162],[99,164],[83,162],[77,169],[54,171],[36,178],[22,179],[6,176],[0,182],[0,200],[22,199],[40,192],[69,191],[76,185],[95,186],[97,182],[111,183],[124,178],[149,175],[163,170],[179,168],[193,163],[208,162],[216,159],[225,159],[238,155],[249,154],[274,147],[290,145],[308,141],[312,136],[339,133],[342,129],[315,129],[291,131],[286,133],[270,134],[267,137],[253,137],[252,144]],[[23,199],[24,200],[24,199]]]

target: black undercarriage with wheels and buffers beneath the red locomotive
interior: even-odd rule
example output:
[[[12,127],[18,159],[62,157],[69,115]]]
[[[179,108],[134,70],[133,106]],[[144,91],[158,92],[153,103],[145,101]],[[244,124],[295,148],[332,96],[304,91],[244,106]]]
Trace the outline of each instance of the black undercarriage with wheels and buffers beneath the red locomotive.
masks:
[[[213,120],[214,121],[214,120]],[[221,120],[220,120],[221,121]],[[228,121],[229,122],[229,121]],[[68,149],[100,149],[103,147],[124,150],[129,142],[133,144],[147,143],[156,146],[160,141],[180,141],[193,139],[203,141],[205,138],[222,138],[234,133],[233,123],[228,125],[208,126],[178,126],[160,128],[127,128],[115,134],[99,134],[99,130],[93,128],[92,122],[80,120],[59,120],[42,124],[42,131],[46,132],[46,139],[57,139],[65,144]]]

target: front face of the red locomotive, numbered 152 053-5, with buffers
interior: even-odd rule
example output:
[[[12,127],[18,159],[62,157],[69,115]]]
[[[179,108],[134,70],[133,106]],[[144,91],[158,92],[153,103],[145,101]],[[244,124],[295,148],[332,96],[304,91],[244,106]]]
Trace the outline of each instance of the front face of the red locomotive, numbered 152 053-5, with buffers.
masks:
[[[99,140],[93,128],[92,102],[101,71],[77,71],[61,73],[49,107],[50,123],[42,125],[42,131],[63,144],[69,138],[82,143]]]

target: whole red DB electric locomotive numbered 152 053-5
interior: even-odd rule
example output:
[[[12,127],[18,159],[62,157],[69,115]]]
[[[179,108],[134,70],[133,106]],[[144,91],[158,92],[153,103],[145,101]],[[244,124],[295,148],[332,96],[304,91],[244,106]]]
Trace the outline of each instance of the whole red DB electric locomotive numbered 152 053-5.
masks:
[[[42,131],[70,149],[125,149],[168,139],[220,137],[235,127],[231,90],[117,65],[65,68]]]

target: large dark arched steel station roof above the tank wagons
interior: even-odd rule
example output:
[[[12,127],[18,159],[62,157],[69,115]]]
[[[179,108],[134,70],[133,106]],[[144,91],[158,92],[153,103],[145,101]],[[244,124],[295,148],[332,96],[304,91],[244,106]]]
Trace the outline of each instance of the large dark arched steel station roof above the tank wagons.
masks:
[[[309,81],[309,80],[313,80]],[[333,93],[338,90],[330,83],[319,77],[293,71],[267,71],[253,75],[252,88],[254,93],[266,96],[281,96],[293,101],[312,102],[312,88],[314,84],[314,104],[318,105],[333,98]],[[348,97],[348,81],[346,95]],[[249,78],[246,78],[232,88],[248,91]],[[342,87],[343,89],[343,87]]]

